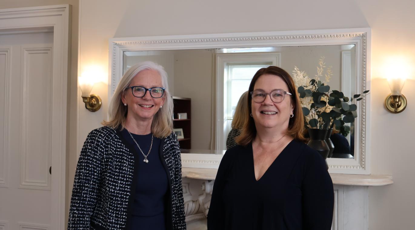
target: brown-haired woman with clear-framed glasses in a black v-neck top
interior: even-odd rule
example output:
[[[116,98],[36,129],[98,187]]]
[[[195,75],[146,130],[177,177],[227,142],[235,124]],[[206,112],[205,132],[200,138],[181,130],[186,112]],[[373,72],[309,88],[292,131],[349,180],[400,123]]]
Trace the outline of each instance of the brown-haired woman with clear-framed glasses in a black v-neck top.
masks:
[[[305,145],[291,76],[261,68],[249,85],[250,116],[220,162],[209,230],[330,230],[334,194],[325,160]]]

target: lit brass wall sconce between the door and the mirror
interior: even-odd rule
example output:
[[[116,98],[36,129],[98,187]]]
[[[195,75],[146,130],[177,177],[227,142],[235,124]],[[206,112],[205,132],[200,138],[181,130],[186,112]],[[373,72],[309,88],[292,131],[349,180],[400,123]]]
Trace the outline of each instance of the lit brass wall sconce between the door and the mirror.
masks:
[[[97,94],[90,94],[95,81],[92,77],[79,77],[79,86],[82,91],[82,101],[85,103],[85,108],[91,112],[98,111],[101,108],[101,98]]]

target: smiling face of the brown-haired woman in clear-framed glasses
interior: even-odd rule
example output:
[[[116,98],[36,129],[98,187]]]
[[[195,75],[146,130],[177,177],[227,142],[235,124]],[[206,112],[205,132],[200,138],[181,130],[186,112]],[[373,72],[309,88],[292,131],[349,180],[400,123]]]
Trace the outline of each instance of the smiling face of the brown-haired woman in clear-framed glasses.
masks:
[[[283,78],[264,74],[256,80],[254,85],[255,90],[261,90],[265,93],[271,93],[273,90],[284,90],[289,92],[288,85]],[[256,103],[251,100],[252,117],[255,121],[256,128],[275,128],[288,129],[288,122],[290,115],[293,113],[293,104],[291,96],[286,94],[283,101],[275,103],[271,100],[270,94],[267,94],[264,102]]]

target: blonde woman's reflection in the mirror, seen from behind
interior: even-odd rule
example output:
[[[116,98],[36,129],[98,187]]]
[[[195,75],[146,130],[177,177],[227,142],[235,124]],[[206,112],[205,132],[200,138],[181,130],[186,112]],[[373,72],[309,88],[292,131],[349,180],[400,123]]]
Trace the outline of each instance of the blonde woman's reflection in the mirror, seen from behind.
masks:
[[[239,97],[238,104],[235,108],[235,114],[232,119],[231,131],[229,131],[228,138],[226,139],[226,149],[230,149],[237,145],[235,138],[241,134],[242,127],[245,120],[248,118],[248,104],[247,104],[248,91],[245,91],[241,97]]]

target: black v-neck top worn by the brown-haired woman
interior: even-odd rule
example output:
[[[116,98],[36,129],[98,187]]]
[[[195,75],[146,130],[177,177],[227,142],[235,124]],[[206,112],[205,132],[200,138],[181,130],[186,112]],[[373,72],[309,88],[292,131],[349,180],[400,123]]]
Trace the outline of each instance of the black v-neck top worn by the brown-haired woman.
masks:
[[[256,181],[252,145],[225,153],[213,186],[209,230],[330,230],[333,184],[317,151],[292,140]]]

